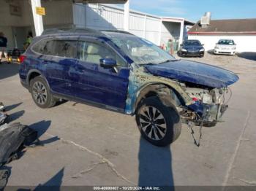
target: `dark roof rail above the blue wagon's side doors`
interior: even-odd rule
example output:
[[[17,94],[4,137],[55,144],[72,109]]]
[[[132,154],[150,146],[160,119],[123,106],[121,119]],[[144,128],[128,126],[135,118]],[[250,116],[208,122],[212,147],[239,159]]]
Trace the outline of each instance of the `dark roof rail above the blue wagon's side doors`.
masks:
[[[91,28],[50,28],[42,32],[42,35],[48,34],[70,34],[70,33],[87,33],[87,34],[101,34],[99,31]]]

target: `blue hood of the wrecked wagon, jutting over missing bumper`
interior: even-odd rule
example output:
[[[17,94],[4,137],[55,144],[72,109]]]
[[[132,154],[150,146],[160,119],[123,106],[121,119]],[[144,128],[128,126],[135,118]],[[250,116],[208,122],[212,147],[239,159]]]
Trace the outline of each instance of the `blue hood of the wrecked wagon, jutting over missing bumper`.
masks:
[[[208,87],[227,87],[238,81],[239,77],[232,71],[206,63],[187,60],[170,61],[155,65],[146,65],[151,74],[183,82],[192,82]]]

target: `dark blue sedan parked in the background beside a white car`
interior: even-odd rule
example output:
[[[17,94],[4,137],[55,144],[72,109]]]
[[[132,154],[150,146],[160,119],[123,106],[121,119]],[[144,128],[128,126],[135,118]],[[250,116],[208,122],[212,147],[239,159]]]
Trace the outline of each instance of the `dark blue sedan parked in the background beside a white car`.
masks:
[[[182,57],[203,57],[204,53],[205,49],[203,48],[203,44],[201,44],[199,40],[185,40],[183,44],[181,44],[180,50],[178,50],[178,55]]]

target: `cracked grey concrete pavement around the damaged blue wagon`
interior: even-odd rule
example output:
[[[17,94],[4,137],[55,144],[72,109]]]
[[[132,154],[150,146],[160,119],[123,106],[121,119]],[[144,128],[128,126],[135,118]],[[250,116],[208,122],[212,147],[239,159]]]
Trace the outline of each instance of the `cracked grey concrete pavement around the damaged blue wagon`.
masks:
[[[238,73],[225,122],[203,128],[201,146],[183,125],[170,147],[140,139],[134,117],[66,102],[39,109],[19,82],[17,65],[0,65],[0,101],[10,120],[39,130],[43,147],[8,164],[8,185],[254,185],[256,62],[206,55],[189,58]],[[196,128],[195,128],[196,129]]]

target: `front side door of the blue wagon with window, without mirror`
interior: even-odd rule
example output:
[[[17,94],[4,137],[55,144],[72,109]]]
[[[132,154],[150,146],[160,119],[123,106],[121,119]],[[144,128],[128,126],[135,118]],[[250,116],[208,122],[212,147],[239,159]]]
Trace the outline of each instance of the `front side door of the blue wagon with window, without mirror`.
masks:
[[[78,56],[78,98],[124,111],[129,82],[127,62],[99,39],[80,39]],[[118,66],[116,69],[102,68],[101,58],[113,58]]]

